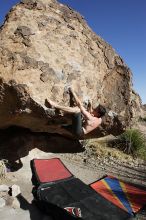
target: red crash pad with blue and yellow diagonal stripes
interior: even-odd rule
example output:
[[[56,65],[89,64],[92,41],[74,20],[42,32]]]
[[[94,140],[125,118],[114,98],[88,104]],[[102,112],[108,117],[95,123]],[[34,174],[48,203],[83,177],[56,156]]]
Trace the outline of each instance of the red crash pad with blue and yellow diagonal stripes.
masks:
[[[146,191],[115,177],[106,176],[91,183],[90,187],[130,215],[137,213],[146,204]]]

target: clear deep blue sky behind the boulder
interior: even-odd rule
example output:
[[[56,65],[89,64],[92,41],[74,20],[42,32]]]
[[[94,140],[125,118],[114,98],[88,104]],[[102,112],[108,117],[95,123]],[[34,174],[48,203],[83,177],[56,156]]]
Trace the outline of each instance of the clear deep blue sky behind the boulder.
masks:
[[[0,23],[20,0],[0,0]],[[133,73],[133,87],[146,104],[146,0],[59,0],[80,12],[112,45]]]

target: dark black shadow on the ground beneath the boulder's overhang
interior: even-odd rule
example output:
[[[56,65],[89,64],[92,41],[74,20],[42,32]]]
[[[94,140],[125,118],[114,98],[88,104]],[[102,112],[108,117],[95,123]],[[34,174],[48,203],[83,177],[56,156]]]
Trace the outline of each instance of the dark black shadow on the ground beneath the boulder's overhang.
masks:
[[[23,166],[20,158],[27,156],[34,148],[47,153],[84,151],[78,140],[72,140],[58,134],[34,133],[15,126],[0,130],[0,159],[8,161],[11,171],[20,169]]]

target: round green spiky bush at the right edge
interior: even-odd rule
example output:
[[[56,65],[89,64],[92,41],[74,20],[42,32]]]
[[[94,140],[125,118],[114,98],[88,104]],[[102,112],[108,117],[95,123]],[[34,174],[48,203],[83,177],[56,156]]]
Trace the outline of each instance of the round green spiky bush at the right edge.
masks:
[[[129,129],[118,138],[118,147],[127,154],[146,159],[146,139],[137,129]]]

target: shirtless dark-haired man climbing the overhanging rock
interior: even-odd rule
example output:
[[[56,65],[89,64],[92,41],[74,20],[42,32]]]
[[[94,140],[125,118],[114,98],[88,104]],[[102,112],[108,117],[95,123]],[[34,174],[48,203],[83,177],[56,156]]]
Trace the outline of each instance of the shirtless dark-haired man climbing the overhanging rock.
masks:
[[[106,109],[102,105],[98,105],[96,109],[92,109],[92,104],[89,102],[88,110],[86,110],[72,88],[69,88],[69,92],[76,102],[77,106],[75,107],[61,106],[48,99],[46,101],[55,109],[72,114],[72,125],[63,127],[76,137],[80,138],[93,131],[101,124],[102,117],[105,115]],[[82,122],[82,115],[84,119],[83,121],[85,122]]]

